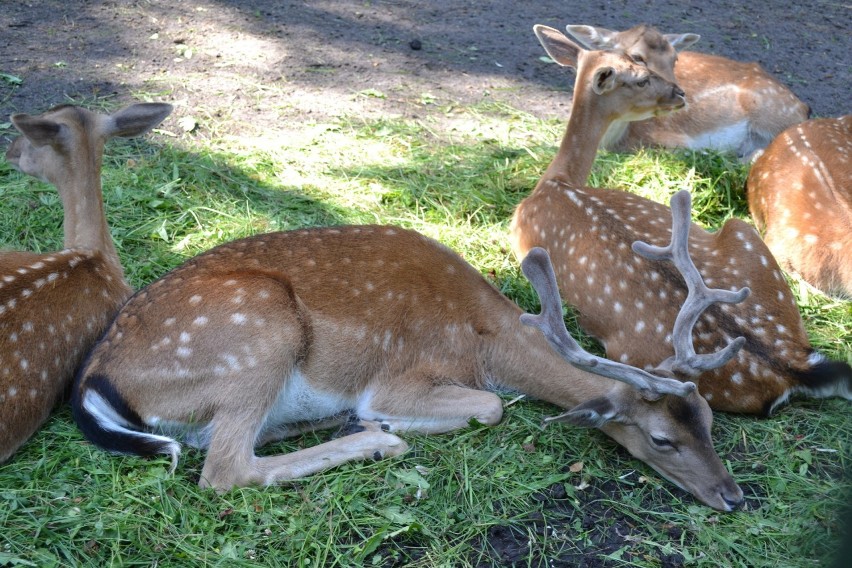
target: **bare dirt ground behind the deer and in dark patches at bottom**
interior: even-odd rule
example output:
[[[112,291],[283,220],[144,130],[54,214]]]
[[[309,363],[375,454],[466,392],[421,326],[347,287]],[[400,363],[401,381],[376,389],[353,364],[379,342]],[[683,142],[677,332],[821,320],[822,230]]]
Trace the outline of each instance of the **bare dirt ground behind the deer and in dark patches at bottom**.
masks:
[[[540,59],[533,24],[642,22],[699,33],[700,51],[759,61],[817,116],[852,111],[844,0],[0,0],[0,124],[13,112],[140,95],[175,104],[166,128],[193,116],[208,137],[352,114],[440,121],[448,104],[483,101],[565,117],[573,75]],[[558,509],[560,495],[554,486],[542,499]],[[587,513],[588,523],[607,516]],[[596,550],[621,546],[626,522],[609,523]],[[488,539],[498,563],[529,560],[527,537],[512,528]]]

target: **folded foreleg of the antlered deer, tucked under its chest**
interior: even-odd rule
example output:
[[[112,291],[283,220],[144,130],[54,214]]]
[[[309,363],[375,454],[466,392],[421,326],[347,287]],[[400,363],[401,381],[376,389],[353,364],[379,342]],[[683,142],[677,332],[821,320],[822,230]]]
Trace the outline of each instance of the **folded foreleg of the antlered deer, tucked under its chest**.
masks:
[[[434,380],[423,380],[422,372],[413,374],[421,377],[401,377],[393,385],[374,390],[356,409],[358,417],[378,422],[383,430],[414,430],[424,434],[464,428],[471,419],[490,426],[503,417],[503,402],[494,393],[455,384],[434,384]]]

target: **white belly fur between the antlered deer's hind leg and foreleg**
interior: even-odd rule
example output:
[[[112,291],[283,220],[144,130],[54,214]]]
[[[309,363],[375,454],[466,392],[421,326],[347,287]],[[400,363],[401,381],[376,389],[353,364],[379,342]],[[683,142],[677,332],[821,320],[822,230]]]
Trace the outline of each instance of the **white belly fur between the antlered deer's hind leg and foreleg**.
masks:
[[[311,387],[305,376],[297,370],[287,378],[284,388],[278,393],[275,404],[264,420],[263,429],[279,424],[329,418],[351,409],[354,405],[354,399]]]

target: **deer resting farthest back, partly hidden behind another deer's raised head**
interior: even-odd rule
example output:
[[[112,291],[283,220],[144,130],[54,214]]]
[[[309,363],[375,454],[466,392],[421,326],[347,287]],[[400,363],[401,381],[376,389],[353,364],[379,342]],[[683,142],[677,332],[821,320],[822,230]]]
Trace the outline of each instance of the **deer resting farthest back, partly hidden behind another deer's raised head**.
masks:
[[[692,51],[678,56],[675,49],[698,41],[701,36],[696,34],[662,35],[644,25],[623,32],[583,25],[567,30],[587,49],[625,53],[686,92],[689,105],[680,112],[642,122],[614,122],[602,141],[604,148],[707,148],[736,152],[751,161],[782,130],[810,114],[805,103],[757,63]]]

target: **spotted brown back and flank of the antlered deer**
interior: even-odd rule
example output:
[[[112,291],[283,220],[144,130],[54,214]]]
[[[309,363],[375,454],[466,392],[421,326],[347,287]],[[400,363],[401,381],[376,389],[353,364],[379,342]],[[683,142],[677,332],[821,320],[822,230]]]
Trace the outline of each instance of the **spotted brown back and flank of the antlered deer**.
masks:
[[[209,366],[213,376],[224,376],[236,366],[251,367],[252,357],[262,360],[257,353],[275,344],[304,345],[296,357],[302,373],[347,399],[369,380],[421,363],[463,364],[460,377],[481,378],[477,358],[467,355],[483,349],[481,337],[496,335],[520,314],[481,280],[449,249],[396,227],[258,235],[212,249],[138,292],[88,366],[112,377],[143,416],[174,420],[199,410],[187,396],[164,394],[173,410],[151,400],[168,369]],[[274,309],[279,302],[290,309]],[[205,342],[209,330],[216,335]],[[153,366],[151,353],[158,354]],[[139,372],[145,380],[137,384]],[[247,396],[256,386],[247,386]]]

